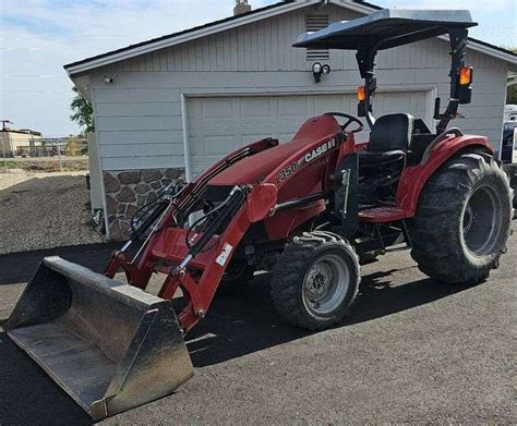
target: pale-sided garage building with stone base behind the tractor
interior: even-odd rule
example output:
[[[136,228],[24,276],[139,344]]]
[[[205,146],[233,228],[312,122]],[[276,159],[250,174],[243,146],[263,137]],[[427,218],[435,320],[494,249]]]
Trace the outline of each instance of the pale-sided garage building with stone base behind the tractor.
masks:
[[[248,1],[237,3],[226,20],[65,65],[94,108],[93,207],[104,210],[112,240],[127,236],[139,206],[179,177],[190,180],[263,137],[287,142],[311,115],[357,113],[362,81],[353,52],[291,45],[301,33],[380,8],[298,0],[247,11]],[[434,99],[448,96],[448,52],[442,38],[380,52],[375,115],[409,112],[433,129]],[[474,68],[473,99],[455,125],[488,135],[498,150],[506,75],[517,57],[471,39],[467,60]],[[332,68],[320,83],[315,62]]]

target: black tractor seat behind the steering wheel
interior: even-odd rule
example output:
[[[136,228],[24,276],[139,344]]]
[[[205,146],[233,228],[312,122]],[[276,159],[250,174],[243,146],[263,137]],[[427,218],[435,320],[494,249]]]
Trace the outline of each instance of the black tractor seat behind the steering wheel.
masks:
[[[360,167],[385,166],[406,158],[413,121],[412,115],[405,113],[380,117],[370,132],[368,150],[359,153]]]

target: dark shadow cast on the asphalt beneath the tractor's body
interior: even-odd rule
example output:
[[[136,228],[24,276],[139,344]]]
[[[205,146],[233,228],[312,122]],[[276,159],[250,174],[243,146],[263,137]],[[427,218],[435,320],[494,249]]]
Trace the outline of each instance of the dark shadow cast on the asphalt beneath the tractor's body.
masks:
[[[364,276],[358,299],[339,327],[410,309],[469,288],[445,285],[431,279],[393,285],[389,277],[396,271]],[[195,367],[221,363],[311,334],[278,316],[269,296],[269,273],[255,277],[241,296],[215,299],[206,318],[188,336]]]

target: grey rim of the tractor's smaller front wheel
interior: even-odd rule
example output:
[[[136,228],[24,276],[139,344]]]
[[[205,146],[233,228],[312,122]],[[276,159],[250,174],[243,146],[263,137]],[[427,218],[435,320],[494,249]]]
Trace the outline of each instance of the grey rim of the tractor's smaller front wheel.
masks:
[[[328,315],[340,306],[350,287],[345,259],[328,254],[317,259],[303,280],[303,302],[314,314]]]

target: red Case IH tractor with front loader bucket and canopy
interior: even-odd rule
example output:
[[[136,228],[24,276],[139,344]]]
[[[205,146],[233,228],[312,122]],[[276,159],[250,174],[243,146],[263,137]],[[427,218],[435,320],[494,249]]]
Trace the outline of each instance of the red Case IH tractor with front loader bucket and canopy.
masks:
[[[360,264],[394,248],[411,249],[437,281],[486,279],[510,232],[508,180],[486,137],[448,129],[471,99],[465,53],[473,25],[467,11],[382,10],[301,36],[296,47],[357,50],[358,115],[370,141],[354,141],[358,118],[328,112],[289,143],[267,138],[229,154],[146,206],[105,276],[44,259],[9,319],[10,338],[103,418],[189,379],[183,334],[218,289],[242,289],[272,263],[275,307],[309,330],[339,324],[358,293]],[[376,53],[447,34],[450,99],[443,112],[436,100],[436,131],[402,112],[374,119]],[[113,280],[119,270],[128,284]],[[153,273],[165,277],[158,296],[144,292]]]

